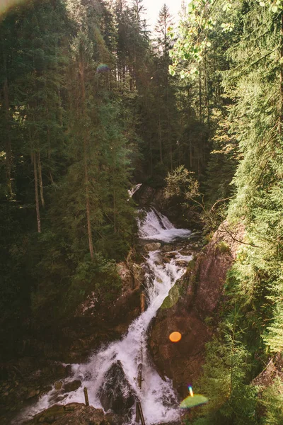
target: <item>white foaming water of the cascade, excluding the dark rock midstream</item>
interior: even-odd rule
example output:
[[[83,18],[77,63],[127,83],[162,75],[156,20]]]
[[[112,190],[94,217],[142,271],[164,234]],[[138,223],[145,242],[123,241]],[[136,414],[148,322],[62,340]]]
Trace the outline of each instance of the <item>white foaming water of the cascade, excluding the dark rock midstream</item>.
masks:
[[[139,235],[142,239],[151,239],[162,242],[172,242],[180,237],[189,237],[190,231],[186,229],[176,229],[167,217],[161,215],[154,208],[151,208],[144,220],[139,220]],[[101,388],[108,380],[107,373],[113,365],[122,365],[123,373],[127,380],[127,387],[124,392],[134,393],[142,406],[146,425],[161,424],[163,422],[175,421],[180,412],[178,409],[178,399],[172,387],[171,380],[162,380],[151,363],[147,353],[147,331],[151,319],[154,318],[163,300],[168,295],[169,290],[175,281],[183,276],[185,268],[178,265],[177,259],[190,261],[191,256],[184,256],[177,251],[172,252],[173,258],[170,262],[163,263],[161,251],[150,251],[144,267],[146,268],[146,298],[147,309],[132,322],[127,334],[120,340],[103,346],[99,351],[89,358],[87,363],[72,365],[72,376],[64,382],[81,380],[82,385],[78,390],[69,392],[67,397],[59,404],[69,402],[84,402],[83,387],[88,388],[88,398],[91,405],[101,408],[100,395]],[[168,336],[164,334],[164,338]],[[137,382],[138,368],[142,368],[141,388]],[[122,382],[121,382],[122,385]],[[127,396],[127,394],[125,394]],[[50,392],[40,398],[40,400],[28,411],[23,412],[22,419],[28,419],[43,409],[52,406],[57,401],[57,390],[53,387]],[[58,403],[58,402],[57,402]],[[17,422],[19,423],[19,422]],[[134,407],[129,411],[128,424],[135,424]]]

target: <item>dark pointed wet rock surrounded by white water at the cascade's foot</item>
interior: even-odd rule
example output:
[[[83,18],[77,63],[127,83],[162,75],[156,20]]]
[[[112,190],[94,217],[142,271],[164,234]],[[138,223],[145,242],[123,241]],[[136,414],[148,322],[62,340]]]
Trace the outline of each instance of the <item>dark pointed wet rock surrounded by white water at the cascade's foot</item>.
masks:
[[[127,382],[120,361],[112,365],[105,374],[98,397],[105,411],[111,409],[116,414],[127,414],[134,405],[135,394]]]

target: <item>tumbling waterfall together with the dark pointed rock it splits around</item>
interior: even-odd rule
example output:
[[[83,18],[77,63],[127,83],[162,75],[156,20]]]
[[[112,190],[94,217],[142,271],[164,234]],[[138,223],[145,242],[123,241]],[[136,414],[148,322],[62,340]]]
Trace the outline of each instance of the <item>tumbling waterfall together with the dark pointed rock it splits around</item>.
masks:
[[[143,264],[145,280],[142,284],[146,294],[146,310],[130,324],[121,340],[98,349],[87,363],[71,365],[71,377],[62,383],[62,391],[53,385],[47,395],[21,415],[21,421],[58,402],[82,403],[83,387],[88,388],[88,397],[94,407],[104,407],[105,411],[110,407],[115,414],[124,415],[123,423],[136,423],[137,400],[141,402],[146,424],[168,423],[179,418],[179,402],[172,382],[166,377],[162,379],[154,369],[147,352],[147,339],[151,320],[176,280],[185,273],[185,264],[192,259],[192,255],[182,254],[184,246],[190,244],[191,231],[175,228],[166,216],[150,208],[144,219],[139,221],[139,235],[141,239],[161,242],[165,249],[166,244],[173,244],[175,248],[166,251],[167,255],[170,254],[166,263],[163,263],[160,249],[146,254]],[[164,339],[168,339],[168,336],[166,332],[163,334]],[[140,384],[139,370],[142,377]],[[79,381],[81,385],[76,391],[67,393],[63,387],[72,381]],[[15,424],[19,421],[18,417]]]

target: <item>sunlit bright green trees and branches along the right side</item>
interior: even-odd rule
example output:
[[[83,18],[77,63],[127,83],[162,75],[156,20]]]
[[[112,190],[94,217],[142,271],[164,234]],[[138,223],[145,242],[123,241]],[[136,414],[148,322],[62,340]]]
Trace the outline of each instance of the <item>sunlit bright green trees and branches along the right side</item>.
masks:
[[[192,415],[199,416],[192,420],[198,425],[282,421],[282,380],[274,380],[267,392],[252,382],[282,352],[282,6],[282,1],[191,1],[171,55],[171,74],[196,81],[205,58],[214,54],[214,42],[220,42],[226,111],[214,114],[216,149],[207,194],[212,200],[214,188],[217,198],[226,198],[232,176],[226,163],[238,163],[227,218],[246,226],[246,245],[229,272],[221,317],[212,321],[217,332],[199,382],[210,403]]]

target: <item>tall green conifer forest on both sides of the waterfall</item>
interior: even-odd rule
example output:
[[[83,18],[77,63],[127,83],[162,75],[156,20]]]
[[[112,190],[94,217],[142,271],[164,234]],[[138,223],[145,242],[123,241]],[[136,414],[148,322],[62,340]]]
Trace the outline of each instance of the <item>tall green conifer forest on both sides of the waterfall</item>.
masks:
[[[120,295],[143,183],[202,249],[245,228],[206,322],[209,403],[178,424],[282,425],[283,1],[184,0],[178,23],[164,4],[151,30],[143,0],[2,9],[0,382],[91,291]]]

